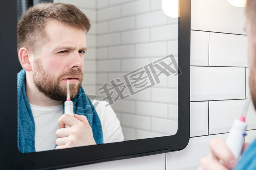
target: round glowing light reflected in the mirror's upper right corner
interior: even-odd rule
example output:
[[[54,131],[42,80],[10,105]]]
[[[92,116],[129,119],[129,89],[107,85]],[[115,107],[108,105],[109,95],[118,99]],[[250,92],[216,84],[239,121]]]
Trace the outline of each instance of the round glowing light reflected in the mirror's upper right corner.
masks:
[[[162,0],[162,10],[169,17],[179,17],[179,0]]]

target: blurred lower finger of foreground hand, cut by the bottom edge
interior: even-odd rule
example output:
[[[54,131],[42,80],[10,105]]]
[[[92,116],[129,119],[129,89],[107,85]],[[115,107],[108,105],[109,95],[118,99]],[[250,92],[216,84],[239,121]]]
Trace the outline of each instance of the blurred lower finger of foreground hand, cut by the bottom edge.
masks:
[[[208,155],[200,160],[200,165],[197,170],[228,170],[219,161],[212,159],[211,155]],[[210,165],[210,166],[209,166]]]

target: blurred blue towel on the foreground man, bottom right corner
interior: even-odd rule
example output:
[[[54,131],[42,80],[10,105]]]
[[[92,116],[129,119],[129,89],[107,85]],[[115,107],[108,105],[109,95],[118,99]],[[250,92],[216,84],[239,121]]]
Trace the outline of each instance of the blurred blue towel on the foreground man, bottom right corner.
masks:
[[[243,152],[241,160],[234,170],[255,170],[256,169],[256,139]]]

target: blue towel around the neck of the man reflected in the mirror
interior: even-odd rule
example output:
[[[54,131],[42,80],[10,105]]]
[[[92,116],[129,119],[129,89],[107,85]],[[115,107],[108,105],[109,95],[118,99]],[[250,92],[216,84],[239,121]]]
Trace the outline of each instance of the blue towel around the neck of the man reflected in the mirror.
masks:
[[[35,121],[26,96],[25,81],[26,74],[25,70],[22,69],[17,74],[18,149],[21,153],[30,153],[35,152]],[[82,86],[72,102],[74,113],[87,117],[96,144],[103,144],[103,132],[99,116]]]

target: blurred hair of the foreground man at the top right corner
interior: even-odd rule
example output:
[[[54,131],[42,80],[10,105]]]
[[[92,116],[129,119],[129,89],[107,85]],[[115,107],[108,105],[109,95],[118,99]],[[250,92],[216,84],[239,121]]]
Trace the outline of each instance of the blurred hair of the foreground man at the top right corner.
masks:
[[[246,1],[246,17],[251,24],[256,26],[256,0]]]

